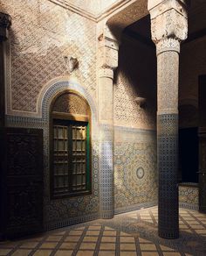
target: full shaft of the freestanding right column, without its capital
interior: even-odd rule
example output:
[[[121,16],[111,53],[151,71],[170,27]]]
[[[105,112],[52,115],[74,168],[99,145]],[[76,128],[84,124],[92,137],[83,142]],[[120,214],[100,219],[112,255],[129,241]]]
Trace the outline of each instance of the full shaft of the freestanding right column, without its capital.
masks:
[[[161,238],[178,238],[179,236],[177,187],[178,69],[179,55],[177,52],[164,49],[163,52],[157,54],[158,224]]]

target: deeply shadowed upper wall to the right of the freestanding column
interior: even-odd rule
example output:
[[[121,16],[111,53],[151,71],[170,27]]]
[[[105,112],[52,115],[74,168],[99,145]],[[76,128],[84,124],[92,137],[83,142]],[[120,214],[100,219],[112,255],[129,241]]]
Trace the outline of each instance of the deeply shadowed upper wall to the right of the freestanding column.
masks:
[[[206,74],[206,39],[182,45],[180,54],[180,126],[198,126],[198,76]]]

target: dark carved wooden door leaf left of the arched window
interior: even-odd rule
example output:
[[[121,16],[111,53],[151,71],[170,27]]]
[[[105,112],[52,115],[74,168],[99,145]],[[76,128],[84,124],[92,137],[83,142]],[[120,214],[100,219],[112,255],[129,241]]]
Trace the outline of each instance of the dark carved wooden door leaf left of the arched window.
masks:
[[[5,132],[6,234],[42,231],[43,131],[7,128]]]

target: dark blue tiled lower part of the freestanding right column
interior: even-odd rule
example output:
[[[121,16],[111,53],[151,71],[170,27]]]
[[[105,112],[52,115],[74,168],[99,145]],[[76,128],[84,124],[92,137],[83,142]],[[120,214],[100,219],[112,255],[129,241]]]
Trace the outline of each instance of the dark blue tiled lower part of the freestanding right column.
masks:
[[[178,115],[157,116],[159,235],[178,237]]]

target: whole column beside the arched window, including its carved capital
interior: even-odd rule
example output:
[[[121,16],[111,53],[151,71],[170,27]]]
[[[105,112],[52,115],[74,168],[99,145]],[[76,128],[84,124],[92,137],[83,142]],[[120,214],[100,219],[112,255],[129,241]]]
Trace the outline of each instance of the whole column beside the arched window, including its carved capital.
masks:
[[[113,70],[118,65],[118,43],[102,35],[99,40],[100,217],[114,214]]]

